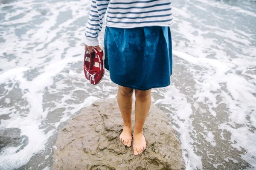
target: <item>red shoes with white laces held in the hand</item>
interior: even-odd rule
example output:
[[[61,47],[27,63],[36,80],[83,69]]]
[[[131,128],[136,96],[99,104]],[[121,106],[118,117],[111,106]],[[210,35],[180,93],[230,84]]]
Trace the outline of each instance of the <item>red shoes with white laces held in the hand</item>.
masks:
[[[100,47],[102,52],[99,52],[96,48],[93,48],[93,53],[89,51],[84,53],[84,75],[92,85],[97,85],[102,81],[105,74],[104,65],[104,48]]]

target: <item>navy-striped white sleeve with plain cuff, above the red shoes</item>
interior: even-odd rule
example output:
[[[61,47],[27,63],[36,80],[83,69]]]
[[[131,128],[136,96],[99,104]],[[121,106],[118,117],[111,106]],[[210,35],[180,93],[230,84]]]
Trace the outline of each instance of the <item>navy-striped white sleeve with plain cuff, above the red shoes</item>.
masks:
[[[99,45],[98,36],[102,29],[103,18],[108,8],[109,0],[92,0],[89,18],[86,25],[84,43],[88,46]]]

